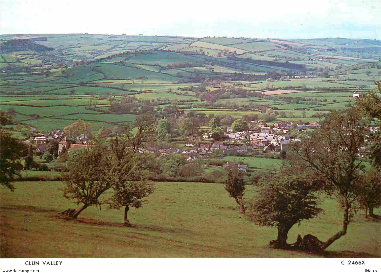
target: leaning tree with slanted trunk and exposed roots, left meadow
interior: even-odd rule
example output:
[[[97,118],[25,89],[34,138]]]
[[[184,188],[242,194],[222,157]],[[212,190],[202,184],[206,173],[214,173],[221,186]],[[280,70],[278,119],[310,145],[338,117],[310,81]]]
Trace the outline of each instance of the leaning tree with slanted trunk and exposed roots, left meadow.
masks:
[[[69,172],[62,175],[65,184],[64,197],[83,206],[65,210],[61,214],[77,218],[87,207],[101,206],[106,202],[100,198],[111,187],[107,177],[110,164],[106,155],[106,147],[93,142],[93,145],[78,151],[69,160]]]

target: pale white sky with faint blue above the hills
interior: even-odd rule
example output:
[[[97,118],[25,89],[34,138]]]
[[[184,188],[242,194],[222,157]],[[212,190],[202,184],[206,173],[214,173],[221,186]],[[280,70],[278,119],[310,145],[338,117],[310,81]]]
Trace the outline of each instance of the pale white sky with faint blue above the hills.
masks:
[[[381,39],[381,0],[0,0],[1,34]]]

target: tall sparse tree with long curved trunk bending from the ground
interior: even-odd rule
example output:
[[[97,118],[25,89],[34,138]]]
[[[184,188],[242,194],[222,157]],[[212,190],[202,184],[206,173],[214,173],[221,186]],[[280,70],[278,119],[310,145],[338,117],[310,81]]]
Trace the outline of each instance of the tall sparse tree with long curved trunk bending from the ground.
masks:
[[[343,208],[342,229],[325,242],[314,238],[314,242],[306,243],[313,249],[324,250],[347,233],[352,204],[363,183],[365,165],[359,153],[367,145],[368,133],[368,126],[359,112],[349,109],[347,114],[331,113],[320,130],[293,146],[307,168],[313,170],[311,177],[320,180],[325,192],[335,197]]]

